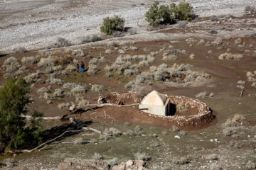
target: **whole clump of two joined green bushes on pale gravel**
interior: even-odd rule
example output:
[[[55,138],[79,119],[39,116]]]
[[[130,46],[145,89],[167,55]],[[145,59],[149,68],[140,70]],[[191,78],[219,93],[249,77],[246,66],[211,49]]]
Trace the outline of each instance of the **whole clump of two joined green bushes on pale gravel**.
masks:
[[[149,11],[146,11],[145,17],[149,25],[154,27],[173,24],[175,19],[191,21],[192,6],[185,1],[178,5],[172,3],[169,6],[159,6],[159,2],[156,2],[149,8]]]

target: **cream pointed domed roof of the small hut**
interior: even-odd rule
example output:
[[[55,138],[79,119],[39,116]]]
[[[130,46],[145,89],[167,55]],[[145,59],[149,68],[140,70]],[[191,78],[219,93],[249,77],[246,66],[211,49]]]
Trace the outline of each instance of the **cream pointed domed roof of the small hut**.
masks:
[[[158,91],[151,91],[142,100],[142,105],[164,106],[166,103],[166,96],[160,94]]]

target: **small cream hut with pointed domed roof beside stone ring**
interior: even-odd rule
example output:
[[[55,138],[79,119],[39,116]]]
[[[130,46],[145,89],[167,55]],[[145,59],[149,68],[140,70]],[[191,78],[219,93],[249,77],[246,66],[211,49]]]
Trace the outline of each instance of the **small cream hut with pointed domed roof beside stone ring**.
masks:
[[[170,99],[158,91],[151,91],[146,95],[142,103],[139,105],[139,110],[154,115],[170,115],[171,113]]]

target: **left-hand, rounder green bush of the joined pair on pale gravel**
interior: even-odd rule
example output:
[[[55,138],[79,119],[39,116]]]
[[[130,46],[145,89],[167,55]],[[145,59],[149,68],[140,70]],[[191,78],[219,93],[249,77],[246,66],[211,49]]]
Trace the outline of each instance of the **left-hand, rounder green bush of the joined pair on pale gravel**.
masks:
[[[159,26],[159,24],[174,23],[169,6],[159,6],[159,2],[155,2],[149,11],[146,11],[145,17],[149,25],[154,27]]]

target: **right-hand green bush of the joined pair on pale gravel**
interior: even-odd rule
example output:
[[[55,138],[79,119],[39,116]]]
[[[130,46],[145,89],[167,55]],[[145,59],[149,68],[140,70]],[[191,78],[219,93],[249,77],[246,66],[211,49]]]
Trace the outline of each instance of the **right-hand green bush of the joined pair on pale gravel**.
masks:
[[[176,4],[172,3],[170,5],[171,13],[173,13],[174,18],[178,20],[192,20],[192,6],[188,2],[181,2],[176,6]]]

